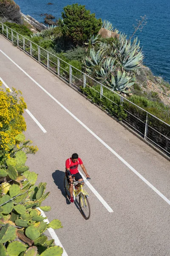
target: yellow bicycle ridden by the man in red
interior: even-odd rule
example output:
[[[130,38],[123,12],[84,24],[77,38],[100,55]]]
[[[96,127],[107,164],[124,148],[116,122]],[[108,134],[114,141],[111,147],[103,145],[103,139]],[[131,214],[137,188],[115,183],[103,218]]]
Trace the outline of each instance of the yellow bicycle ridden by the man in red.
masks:
[[[80,212],[83,216],[83,218],[85,218],[86,220],[88,220],[90,218],[91,215],[91,209],[90,209],[90,204],[88,201],[88,193],[82,189],[83,182],[86,182],[90,180],[90,178],[87,178],[86,180],[82,180],[82,181],[76,181],[75,179],[73,179],[73,198],[74,201],[76,201],[77,196],[79,195],[79,207],[80,207]],[[80,186],[78,187],[78,189],[75,188],[76,184],[80,184]],[[68,196],[68,198],[70,198],[70,192],[69,192],[69,183],[67,181],[67,177],[64,177],[64,189],[65,189],[65,193]]]

